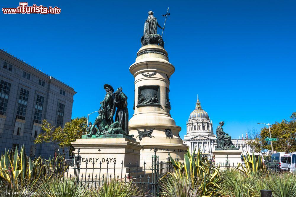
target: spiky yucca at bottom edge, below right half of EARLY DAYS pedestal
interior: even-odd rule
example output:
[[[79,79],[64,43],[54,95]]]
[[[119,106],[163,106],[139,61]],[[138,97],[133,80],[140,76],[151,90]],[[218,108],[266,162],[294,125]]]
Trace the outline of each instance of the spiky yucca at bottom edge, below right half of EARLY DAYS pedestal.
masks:
[[[93,191],[92,196],[96,197],[130,197],[140,194],[138,187],[132,182],[123,182],[118,179],[112,179],[105,183],[99,190]]]

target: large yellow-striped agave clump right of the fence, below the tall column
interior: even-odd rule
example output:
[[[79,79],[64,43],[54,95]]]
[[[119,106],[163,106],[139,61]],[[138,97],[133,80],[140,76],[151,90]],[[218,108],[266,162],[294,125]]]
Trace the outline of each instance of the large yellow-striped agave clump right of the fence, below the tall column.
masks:
[[[189,153],[189,149],[186,154],[184,154],[184,164],[179,161],[175,161],[170,156],[170,162],[172,163],[175,172],[173,174],[168,173],[167,175],[172,175],[176,179],[182,176],[184,173],[186,178],[191,180],[192,185],[195,185],[195,182],[201,182],[198,186],[198,190],[201,196],[217,196],[218,191],[221,189],[219,184],[220,180],[220,165],[218,168],[215,168],[210,161],[202,157],[200,150],[197,151],[195,157],[194,149],[192,155]],[[166,176],[167,176],[166,175]],[[164,176],[164,178],[166,177]]]

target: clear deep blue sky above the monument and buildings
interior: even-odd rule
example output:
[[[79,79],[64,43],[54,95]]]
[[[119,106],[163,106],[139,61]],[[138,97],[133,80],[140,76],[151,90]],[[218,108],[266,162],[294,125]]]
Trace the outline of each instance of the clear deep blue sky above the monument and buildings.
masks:
[[[197,94],[214,129],[224,121],[233,138],[260,130],[257,122],[289,119],[295,111],[296,1],[28,1],[32,4],[57,6],[61,13],[1,13],[0,48],[74,87],[73,118],[99,108],[105,83],[123,87],[131,118],[134,79],[128,68],[141,47],[147,12],[163,25],[168,6],[163,39],[176,68],[170,113],[182,127],[181,137]]]

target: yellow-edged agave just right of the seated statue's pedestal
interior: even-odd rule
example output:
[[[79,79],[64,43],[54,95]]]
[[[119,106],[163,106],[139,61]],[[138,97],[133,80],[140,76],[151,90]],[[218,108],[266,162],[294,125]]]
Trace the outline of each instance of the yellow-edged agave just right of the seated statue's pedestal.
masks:
[[[263,175],[268,173],[261,157],[258,157],[258,161],[256,161],[254,153],[252,153],[252,157],[249,153],[247,153],[246,156],[244,156],[243,158],[245,166],[239,163],[237,169],[239,169],[247,177],[262,177]]]

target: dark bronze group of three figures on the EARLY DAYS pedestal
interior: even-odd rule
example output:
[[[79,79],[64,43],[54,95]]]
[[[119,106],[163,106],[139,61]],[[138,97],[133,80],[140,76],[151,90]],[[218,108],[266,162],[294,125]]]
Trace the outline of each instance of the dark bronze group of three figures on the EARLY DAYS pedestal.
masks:
[[[122,92],[121,87],[114,92],[112,86],[105,84],[104,89],[106,95],[104,100],[100,102],[99,115],[96,117],[94,124],[89,123],[87,135],[89,137],[92,137],[92,135],[99,137],[105,134],[122,134],[133,137],[134,135],[128,134],[128,97]],[[114,114],[115,121],[113,120]]]

